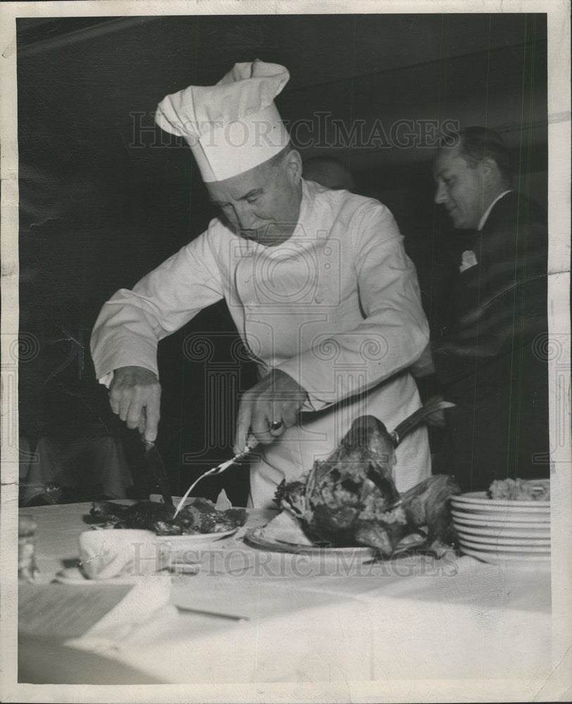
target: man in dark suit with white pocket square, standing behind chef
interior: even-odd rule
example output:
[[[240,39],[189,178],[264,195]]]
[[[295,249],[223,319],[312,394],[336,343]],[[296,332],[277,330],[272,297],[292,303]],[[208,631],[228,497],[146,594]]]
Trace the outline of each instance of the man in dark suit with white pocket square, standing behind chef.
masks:
[[[512,180],[509,151],[485,127],[437,153],[435,202],[468,239],[432,342],[443,396],[456,403],[433,471],[466,490],[548,476],[547,218]]]

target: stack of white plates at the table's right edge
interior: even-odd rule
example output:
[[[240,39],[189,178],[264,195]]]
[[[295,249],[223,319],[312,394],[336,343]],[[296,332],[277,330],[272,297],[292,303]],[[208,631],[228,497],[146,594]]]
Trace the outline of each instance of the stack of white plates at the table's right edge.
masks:
[[[550,559],[550,502],[487,498],[485,491],[451,497],[461,551],[485,562]]]

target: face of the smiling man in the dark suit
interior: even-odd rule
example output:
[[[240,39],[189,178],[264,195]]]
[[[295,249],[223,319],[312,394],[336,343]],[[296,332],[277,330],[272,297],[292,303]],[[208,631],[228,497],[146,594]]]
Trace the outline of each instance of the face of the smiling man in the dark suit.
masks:
[[[485,162],[474,167],[459,153],[459,147],[442,149],[435,161],[435,203],[442,203],[453,225],[463,230],[478,227],[488,205]]]

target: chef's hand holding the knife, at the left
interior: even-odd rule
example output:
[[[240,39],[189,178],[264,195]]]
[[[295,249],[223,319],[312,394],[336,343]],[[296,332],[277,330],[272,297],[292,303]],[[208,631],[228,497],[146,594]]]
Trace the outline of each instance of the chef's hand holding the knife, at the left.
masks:
[[[113,413],[138,428],[149,442],[157,437],[161,404],[161,384],[154,372],[144,367],[119,367],[109,386],[109,405]]]

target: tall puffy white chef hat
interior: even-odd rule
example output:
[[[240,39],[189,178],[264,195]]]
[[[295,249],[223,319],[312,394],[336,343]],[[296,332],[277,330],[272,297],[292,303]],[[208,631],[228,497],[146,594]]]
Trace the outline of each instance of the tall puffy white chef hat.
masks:
[[[155,121],[187,140],[204,182],[223,181],[268,161],[290,142],[273,102],[288,80],[287,69],[276,63],[236,63],[215,86],[166,96]]]

